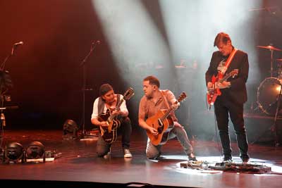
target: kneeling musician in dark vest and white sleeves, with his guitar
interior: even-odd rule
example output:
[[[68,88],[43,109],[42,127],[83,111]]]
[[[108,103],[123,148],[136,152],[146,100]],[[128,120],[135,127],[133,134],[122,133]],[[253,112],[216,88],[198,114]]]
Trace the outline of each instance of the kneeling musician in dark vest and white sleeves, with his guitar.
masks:
[[[129,91],[125,94],[132,96],[133,92]],[[109,156],[111,144],[116,140],[117,134],[121,134],[124,158],[131,158],[129,147],[132,127],[128,118],[125,96],[115,94],[110,84],[102,84],[99,95],[94,101],[91,117],[91,123],[100,127],[97,140],[98,157]]]

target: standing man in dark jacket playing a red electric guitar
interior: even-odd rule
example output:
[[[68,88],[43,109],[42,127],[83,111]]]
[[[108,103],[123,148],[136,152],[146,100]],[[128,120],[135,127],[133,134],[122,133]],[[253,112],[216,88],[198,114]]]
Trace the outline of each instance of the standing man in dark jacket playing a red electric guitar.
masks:
[[[247,136],[243,119],[243,105],[247,101],[246,82],[249,73],[249,61],[244,51],[235,49],[228,34],[220,32],[214,39],[219,51],[212,54],[211,63],[206,72],[207,101],[214,105],[223,161],[231,162],[231,142],[228,133],[230,115],[237,136],[240,158],[243,163],[249,161]]]

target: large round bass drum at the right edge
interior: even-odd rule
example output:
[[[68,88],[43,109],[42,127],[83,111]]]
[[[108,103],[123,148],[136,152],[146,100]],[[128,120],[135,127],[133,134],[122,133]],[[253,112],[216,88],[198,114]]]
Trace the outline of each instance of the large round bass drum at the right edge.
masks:
[[[281,80],[276,77],[266,77],[257,89],[257,104],[262,111],[269,115],[275,115],[278,104],[278,96],[281,90]],[[278,113],[281,113],[282,97]]]

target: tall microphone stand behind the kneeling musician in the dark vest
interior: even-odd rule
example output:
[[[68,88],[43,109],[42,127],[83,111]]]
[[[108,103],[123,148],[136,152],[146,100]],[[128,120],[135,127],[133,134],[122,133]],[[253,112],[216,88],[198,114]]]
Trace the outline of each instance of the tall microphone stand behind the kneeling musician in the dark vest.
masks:
[[[86,61],[89,58],[89,56],[92,54],[92,51],[94,51],[95,48],[95,42],[92,42],[90,51],[85,56],[85,58],[80,63],[80,67],[82,66],[82,133],[80,135],[80,139],[85,139],[86,131],[85,131],[85,91],[90,91],[90,89],[86,89]]]

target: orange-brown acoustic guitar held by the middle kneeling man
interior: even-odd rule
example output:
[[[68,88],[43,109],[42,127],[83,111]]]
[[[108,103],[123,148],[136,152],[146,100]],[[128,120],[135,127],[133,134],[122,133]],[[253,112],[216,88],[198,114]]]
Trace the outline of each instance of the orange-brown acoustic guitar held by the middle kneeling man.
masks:
[[[185,92],[182,92],[174,104],[183,101],[186,96]],[[154,135],[147,130],[147,136],[154,146],[166,144],[168,141],[169,132],[173,129],[173,120],[169,115],[171,111],[173,111],[173,108],[162,109],[146,120],[147,125],[158,131],[158,134]]]

